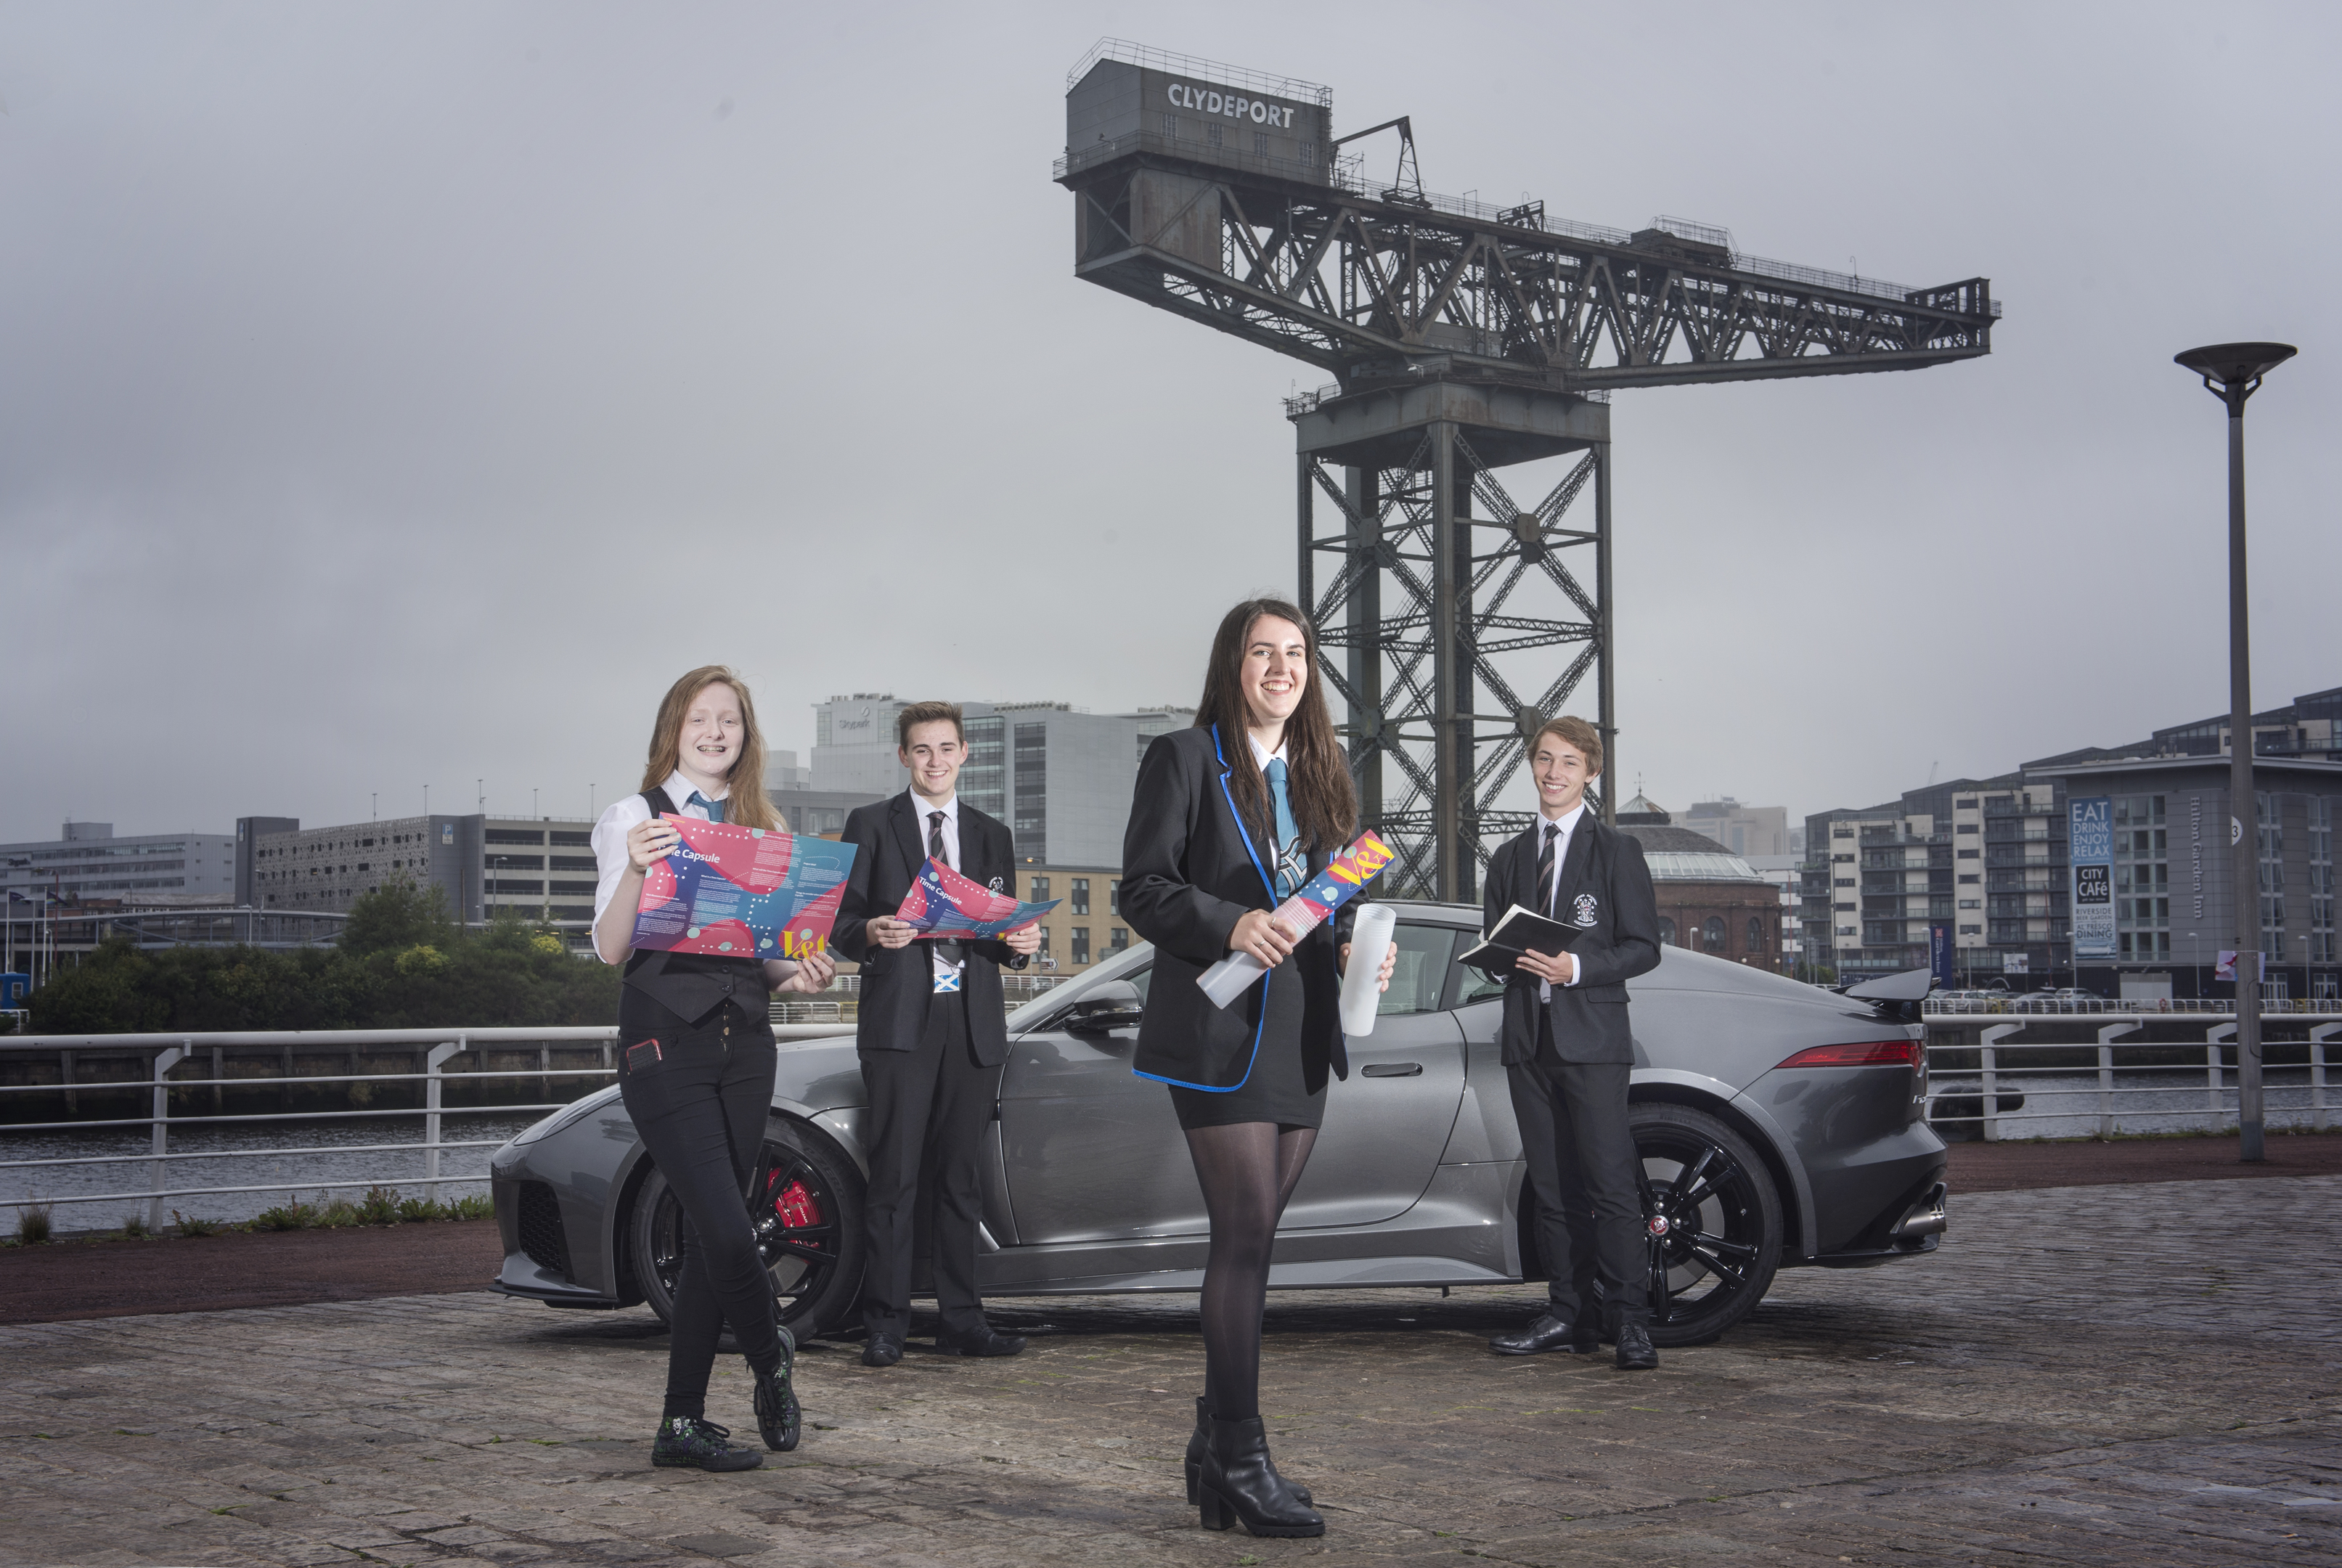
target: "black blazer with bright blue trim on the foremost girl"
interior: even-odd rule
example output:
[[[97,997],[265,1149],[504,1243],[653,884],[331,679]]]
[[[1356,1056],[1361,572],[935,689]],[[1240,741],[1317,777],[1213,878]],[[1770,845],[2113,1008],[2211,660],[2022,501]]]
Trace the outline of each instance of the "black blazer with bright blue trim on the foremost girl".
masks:
[[[1244,747],[1244,735],[1223,744]],[[1333,845],[1342,850],[1347,845]],[[1265,854],[1258,840],[1253,850]],[[1330,850],[1309,852],[1309,871],[1326,868]],[[1274,864],[1262,859],[1262,866]],[[1131,824],[1122,833],[1122,915],[1155,943],[1155,976],[1138,1023],[1131,1070],[1148,1079],[1206,1088],[1237,1088],[1253,1060],[1253,1034],[1269,985],[1302,985],[1302,1065],[1307,1081],[1349,1077],[1342,1051],[1342,978],[1335,962],[1340,931],[1356,920],[1342,906],[1293,950],[1269,978],[1227,1009],[1211,1004],[1197,976],[1227,957],[1227,938],[1244,910],[1272,910],[1276,899],[1237,828],[1223,791],[1223,768],[1208,728],[1157,735],[1138,763]]]

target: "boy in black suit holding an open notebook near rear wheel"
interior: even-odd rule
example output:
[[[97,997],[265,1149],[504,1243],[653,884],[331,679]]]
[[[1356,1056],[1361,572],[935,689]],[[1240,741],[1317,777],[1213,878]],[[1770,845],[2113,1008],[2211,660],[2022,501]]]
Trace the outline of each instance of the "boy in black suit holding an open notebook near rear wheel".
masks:
[[[1658,967],[1658,899],[1642,845],[1586,810],[1602,777],[1602,735],[1548,718],[1529,742],[1539,821],[1487,864],[1487,929],[1520,903],[1579,929],[1567,953],[1525,953],[1490,969],[1504,988],[1499,1048],[1536,1194],[1548,1308],[1499,1355],[1600,1348],[1590,1301],[1600,1271],[1618,1367],[1658,1367],[1651,1348],[1646,1243],[1625,1088],[1635,1070],[1625,981]]]

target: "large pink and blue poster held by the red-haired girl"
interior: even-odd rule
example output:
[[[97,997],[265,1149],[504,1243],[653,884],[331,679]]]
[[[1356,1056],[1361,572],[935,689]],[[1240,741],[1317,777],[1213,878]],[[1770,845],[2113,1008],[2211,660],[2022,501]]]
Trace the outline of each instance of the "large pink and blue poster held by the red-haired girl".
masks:
[[[667,824],[684,843],[642,882],[637,948],[756,960],[829,948],[852,845],[672,812]]]

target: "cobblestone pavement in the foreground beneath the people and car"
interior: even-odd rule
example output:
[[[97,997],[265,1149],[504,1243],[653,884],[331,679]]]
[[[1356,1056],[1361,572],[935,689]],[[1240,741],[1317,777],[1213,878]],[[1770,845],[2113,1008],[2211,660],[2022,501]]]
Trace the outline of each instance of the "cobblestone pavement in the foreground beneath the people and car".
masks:
[[[810,1430],[651,1470],[649,1313],[398,1297],[0,1329],[0,1563],[2342,1561],[2342,1177],[1956,1201],[1656,1374],[1480,1339],[1532,1290],[1283,1294],[1265,1407],[1328,1517],[1199,1531],[1192,1299],[1007,1301],[1005,1362],[799,1360]],[[749,1437],[747,1381],[712,1416]]]

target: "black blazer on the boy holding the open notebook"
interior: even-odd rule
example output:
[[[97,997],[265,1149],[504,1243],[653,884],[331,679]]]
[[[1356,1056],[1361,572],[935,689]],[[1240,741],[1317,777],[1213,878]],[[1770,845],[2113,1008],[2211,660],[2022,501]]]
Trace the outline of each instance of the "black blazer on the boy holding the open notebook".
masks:
[[[1515,903],[1543,908],[1536,896],[1536,838],[1543,819],[1520,838],[1497,845],[1487,861],[1485,931],[1497,929]],[[1553,1048],[1564,1062],[1635,1060],[1635,1034],[1628,1025],[1625,983],[1658,969],[1658,894],[1651,892],[1651,866],[1642,845],[1604,826],[1590,810],[1569,835],[1569,859],[1562,861],[1562,896],[1555,901],[1564,922],[1583,936],[1569,948],[1579,964],[1576,985],[1553,988]],[[1497,1044],[1504,1062],[1536,1058],[1536,976],[1515,969],[1511,960],[1487,964],[1487,974],[1506,981],[1504,1027]]]

